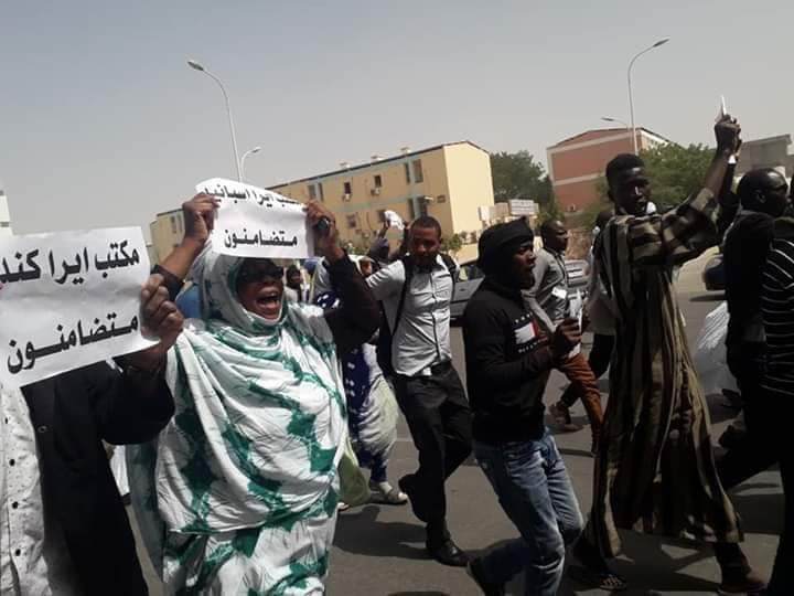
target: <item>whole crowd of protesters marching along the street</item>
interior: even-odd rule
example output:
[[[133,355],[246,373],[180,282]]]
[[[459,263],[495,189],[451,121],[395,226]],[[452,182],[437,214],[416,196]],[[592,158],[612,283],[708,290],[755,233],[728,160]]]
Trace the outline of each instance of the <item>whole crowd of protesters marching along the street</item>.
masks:
[[[526,594],[554,595],[568,554],[576,579],[625,589],[609,563],[619,529],[709,544],[721,593],[794,594],[794,462],[782,426],[794,393],[792,194],[774,170],[747,173],[733,192],[740,127],[725,117],[715,132],[702,188],[664,213],[642,159],[607,166],[613,207],[597,222],[581,315],[562,222],[540,226],[538,252],[524,219],[482,233],[485,277],[462,318],[465,389],[450,343],[457,265],[434,219],[410,222],[395,252],[385,225],[369,255],[353,257],[312,201],[320,260],[307,278],[213,252],[217,201],[187,201],[183,241],[141,291],[160,342],[2,390],[0,592],[147,593],[107,441],[127,445],[132,507],[168,594],[323,594],[337,512],[362,502],[352,489],[361,468],[366,499],[408,503],[429,556],[466,567],[486,595],[505,594],[522,572]],[[728,365],[747,435],[717,459],[673,270],[723,240]],[[583,328],[596,338],[589,359]],[[552,419],[570,427],[581,398],[591,425],[584,517],[545,424],[552,370],[571,382],[549,404]],[[398,411],[418,466],[394,486]],[[479,557],[447,521],[446,482],[472,454],[518,533]],[[739,545],[727,491],[773,464],[787,507],[766,585]]]

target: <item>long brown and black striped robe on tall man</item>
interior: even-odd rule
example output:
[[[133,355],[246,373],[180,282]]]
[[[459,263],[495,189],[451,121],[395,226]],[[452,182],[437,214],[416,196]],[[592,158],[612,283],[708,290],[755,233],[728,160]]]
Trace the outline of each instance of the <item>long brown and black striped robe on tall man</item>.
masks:
[[[618,528],[741,540],[717,477],[708,409],[670,277],[673,266],[717,244],[718,214],[702,190],[663,215],[613,217],[596,245],[618,321],[587,532],[608,556],[620,551]]]

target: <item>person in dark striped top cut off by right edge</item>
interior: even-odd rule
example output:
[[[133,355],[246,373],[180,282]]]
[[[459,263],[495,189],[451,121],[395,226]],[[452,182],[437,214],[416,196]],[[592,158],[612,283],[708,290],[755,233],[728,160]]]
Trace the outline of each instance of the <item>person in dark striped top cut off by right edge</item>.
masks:
[[[751,435],[765,437],[780,460],[785,521],[766,594],[787,596],[794,594],[794,451],[788,438],[788,425],[794,415],[794,356],[791,350],[794,343],[794,219],[777,220],[773,234],[761,284],[766,370],[760,383],[761,394],[755,397],[759,404],[754,427],[748,415],[748,430]]]

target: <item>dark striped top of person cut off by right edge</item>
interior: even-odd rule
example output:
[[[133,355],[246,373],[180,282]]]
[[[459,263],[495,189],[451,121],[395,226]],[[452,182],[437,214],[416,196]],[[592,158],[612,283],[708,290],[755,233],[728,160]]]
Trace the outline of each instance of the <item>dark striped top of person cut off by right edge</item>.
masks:
[[[781,234],[787,237],[780,237]],[[794,395],[794,220],[775,222],[772,251],[763,268],[761,310],[766,332],[768,371],[761,386]]]

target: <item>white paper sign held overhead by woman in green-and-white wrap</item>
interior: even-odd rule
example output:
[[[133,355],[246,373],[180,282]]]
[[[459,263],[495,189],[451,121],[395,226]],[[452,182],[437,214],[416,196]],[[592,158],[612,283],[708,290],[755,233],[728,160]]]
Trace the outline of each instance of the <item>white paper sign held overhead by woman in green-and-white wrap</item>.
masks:
[[[213,251],[240,257],[314,256],[314,234],[299,202],[224,178],[205,180],[196,191],[221,202],[211,236]]]

